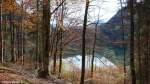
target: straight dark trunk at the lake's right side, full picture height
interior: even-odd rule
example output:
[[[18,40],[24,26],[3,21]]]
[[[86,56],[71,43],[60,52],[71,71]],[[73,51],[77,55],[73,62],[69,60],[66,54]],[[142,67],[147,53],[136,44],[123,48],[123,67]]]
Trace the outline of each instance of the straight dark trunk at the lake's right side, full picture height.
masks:
[[[134,0],[130,0],[130,69],[132,84],[136,84],[135,57],[134,57]]]

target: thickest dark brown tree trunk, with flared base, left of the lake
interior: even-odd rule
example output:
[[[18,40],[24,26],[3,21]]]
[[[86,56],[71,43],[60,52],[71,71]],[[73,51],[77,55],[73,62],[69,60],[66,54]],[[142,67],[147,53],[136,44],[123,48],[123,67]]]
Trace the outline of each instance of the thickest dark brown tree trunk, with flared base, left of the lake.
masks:
[[[43,0],[43,70],[40,77],[46,78],[49,75],[49,33],[50,33],[50,2]]]

